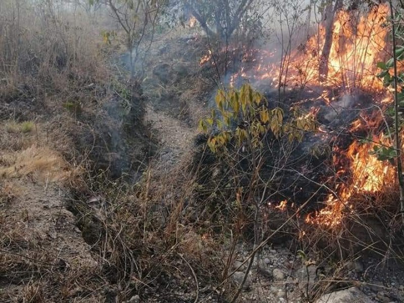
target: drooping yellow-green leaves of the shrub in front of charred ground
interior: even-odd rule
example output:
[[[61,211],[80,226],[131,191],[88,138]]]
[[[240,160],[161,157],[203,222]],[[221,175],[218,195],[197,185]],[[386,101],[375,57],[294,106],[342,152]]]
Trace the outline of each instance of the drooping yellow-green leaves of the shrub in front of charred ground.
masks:
[[[233,141],[237,147],[260,147],[268,134],[275,139],[287,136],[289,141],[300,141],[305,131],[315,129],[313,115],[293,109],[293,119],[285,121],[283,110],[269,109],[266,98],[248,84],[240,89],[218,90],[215,101],[217,111],[212,110],[210,117],[199,121],[201,131],[216,130],[208,139],[213,153],[225,152]]]

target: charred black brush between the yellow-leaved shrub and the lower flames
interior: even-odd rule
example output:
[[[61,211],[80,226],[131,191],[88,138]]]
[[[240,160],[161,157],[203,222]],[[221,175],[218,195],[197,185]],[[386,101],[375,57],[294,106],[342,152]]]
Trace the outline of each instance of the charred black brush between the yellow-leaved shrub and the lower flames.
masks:
[[[321,90],[322,91],[322,90]],[[376,96],[377,97],[377,96]],[[361,117],[366,117],[377,108],[373,107],[375,99],[363,92],[344,95],[340,91],[329,91],[324,97],[313,90],[293,90],[283,95],[283,103],[278,102],[277,93],[267,93],[269,108],[281,107],[285,120],[292,119],[292,110],[297,107],[301,112],[317,112],[318,130],[307,132],[301,142],[289,142],[287,138],[276,138],[272,133],[265,135],[260,157],[263,159],[259,175],[261,181],[254,184],[259,186],[261,207],[277,206],[280,201],[287,200],[288,205],[304,204],[310,200],[305,212],[310,213],[324,207],[326,196],[335,184],[349,180],[350,172],[337,174],[342,168],[349,167],[349,159],[343,156],[346,149],[354,140],[365,139],[369,133],[375,132],[379,124],[368,128],[351,129],[351,123]],[[334,98],[329,104],[328,99]],[[379,129],[380,130],[380,129]],[[215,155],[206,147],[207,138],[199,136],[195,140],[197,151],[194,156],[193,169],[197,171],[197,183],[200,190],[197,199],[201,209],[208,206],[210,220],[225,220],[232,218],[237,209],[236,195],[242,188],[241,202],[244,203],[246,221],[252,225],[253,209],[249,207],[251,179],[254,165],[251,164],[251,153],[246,148],[228,146],[229,154],[234,161],[224,161],[223,157]],[[340,158],[339,163],[334,163]],[[261,193],[265,190],[265,196]],[[229,207],[231,206],[231,207]],[[269,218],[271,220],[271,218]],[[247,224],[248,225],[248,224]]]

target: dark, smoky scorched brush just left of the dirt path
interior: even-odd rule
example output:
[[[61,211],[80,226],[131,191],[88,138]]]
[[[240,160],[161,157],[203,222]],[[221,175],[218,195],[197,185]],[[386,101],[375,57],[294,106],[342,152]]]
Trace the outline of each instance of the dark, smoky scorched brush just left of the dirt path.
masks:
[[[82,113],[78,117],[91,126],[77,132],[77,148],[88,152],[95,173],[106,171],[112,179],[137,179],[155,147],[143,124],[145,98],[140,85],[134,82],[128,88],[125,98],[115,92],[97,114]]]

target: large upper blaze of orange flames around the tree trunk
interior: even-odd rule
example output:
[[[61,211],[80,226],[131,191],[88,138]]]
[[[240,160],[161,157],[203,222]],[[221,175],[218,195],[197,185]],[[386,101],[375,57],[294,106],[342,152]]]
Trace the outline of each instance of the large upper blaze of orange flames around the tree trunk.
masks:
[[[269,81],[276,86],[326,85],[349,90],[361,87],[381,90],[382,82],[376,78],[376,63],[384,59],[387,28],[387,5],[379,5],[367,15],[340,11],[335,16],[332,47],[328,60],[328,77],[320,82],[319,65],[325,41],[325,28],[295,49],[285,70],[276,62],[276,51],[252,50],[256,54],[256,67],[245,72],[251,80]],[[233,78],[237,76],[236,73]],[[280,76],[281,75],[281,76]]]

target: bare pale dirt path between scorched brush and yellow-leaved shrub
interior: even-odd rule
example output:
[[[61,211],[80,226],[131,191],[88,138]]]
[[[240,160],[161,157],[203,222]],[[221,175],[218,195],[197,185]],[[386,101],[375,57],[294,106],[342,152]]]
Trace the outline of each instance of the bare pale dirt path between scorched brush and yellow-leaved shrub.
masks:
[[[156,111],[153,105],[146,106],[146,123],[151,124],[161,144],[160,158],[167,166],[181,162],[181,157],[192,147],[197,127],[190,127],[171,115]]]

